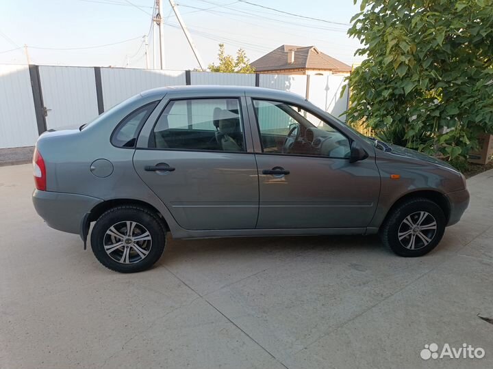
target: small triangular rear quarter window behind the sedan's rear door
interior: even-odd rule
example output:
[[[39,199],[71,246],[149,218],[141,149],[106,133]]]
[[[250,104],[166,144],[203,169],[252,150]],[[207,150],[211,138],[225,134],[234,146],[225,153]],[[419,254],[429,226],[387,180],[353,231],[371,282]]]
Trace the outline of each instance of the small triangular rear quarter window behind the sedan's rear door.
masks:
[[[118,148],[134,148],[140,128],[149,118],[156,105],[157,101],[150,102],[127,115],[114,130],[111,143]]]

